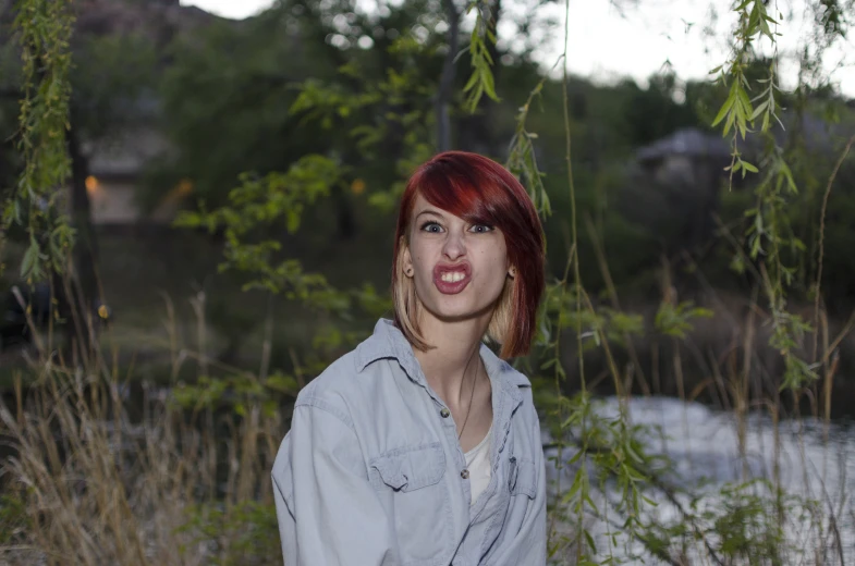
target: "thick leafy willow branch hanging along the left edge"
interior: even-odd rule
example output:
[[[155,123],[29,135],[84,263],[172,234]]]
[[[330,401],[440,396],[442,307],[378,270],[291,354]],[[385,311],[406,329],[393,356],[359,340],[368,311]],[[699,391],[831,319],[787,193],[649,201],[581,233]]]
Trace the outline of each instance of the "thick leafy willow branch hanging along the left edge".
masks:
[[[62,209],[71,172],[69,130],[71,0],[19,0],[15,29],[23,63],[19,149],[24,160],[17,186],[3,210],[3,230],[26,226],[29,238],[21,276],[33,281],[59,269],[73,232]]]

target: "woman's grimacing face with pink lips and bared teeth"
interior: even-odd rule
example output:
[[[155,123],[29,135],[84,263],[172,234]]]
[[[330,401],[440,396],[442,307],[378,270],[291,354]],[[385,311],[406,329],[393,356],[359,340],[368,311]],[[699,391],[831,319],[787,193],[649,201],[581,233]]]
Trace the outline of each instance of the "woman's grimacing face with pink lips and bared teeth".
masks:
[[[448,321],[491,315],[511,268],[498,229],[471,224],[422,195],[413,207],[402,260],[424,307]]]

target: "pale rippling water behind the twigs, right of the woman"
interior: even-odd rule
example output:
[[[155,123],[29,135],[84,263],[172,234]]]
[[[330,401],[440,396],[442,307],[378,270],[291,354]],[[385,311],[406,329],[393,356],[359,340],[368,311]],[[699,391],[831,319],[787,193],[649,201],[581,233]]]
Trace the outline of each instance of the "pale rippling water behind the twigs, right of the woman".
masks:
[[[596,407],[597,414],[604,417],[619,414],[619,403],[614,397],[597,402]],[[632,423],[651,427],[645,435],[648,454],[667,455],[672,460],[674,473],[667,477],[667,483],[679,488],[682,493],[676,497],[677,503],[689,509],[689,494],[704,496],[696,515],[703,509],[724,514],[721,492],[728,485],[742,484],[750,479],[774,478],[774,427],[766,416],[753,414],[746,417],[745,450],[741,451],[738,422],[731,413],[716,411],[697,403],[652,397],[631,399],[627,414]],[[848,496],[855,487],[855,427],[848,422],[836,422],[831,423],[827,431],[821,421],[802,419],[782,421],[778,431],[778,473],[782,488],[794,496],[818,502],[819,512],[813,518],[799,517],[793,512],[787,514],[784,531],[792,547],[782,546],[786,552],[785,563],[816,564],[817,553],[822,564],[841,564],[841,553],[845,563],[855,563],[855,505]],[[547,433],[543,440],[549,442]],[[564,459],[572,455],[573,451],[565,448]],[[549,456],[557,456],[557,451],[547,451]],[[576,470],[572,467],[562,470],[562,490],[569,489]],[[548,463],[547,476],[554,493],[559,478],[554,463]],[[664,492],[650,489],[645,494],[657,503],[656,506],[645,506],[643,516],[647,519],[662,525],[682,521],[681,510]],[[594,497],[599,513],[609,509],[611,527],[602,517],[586,519],[600,550],[608,546],[608,533],[618,530],[614,524],[622,522],[613,507],[608,505],[608,501],[615,502],[619,496],[611,485]],[[770,515],[767,518],[771,521],[774,514]],[[822,537],[819,536],[819,525]],[[834,539],[828,534],[832,527],[840,531],[842,549],[838,549]],[[707,553],[700,543],[693,542],[689,546],[687,554],[694,558],[692,564],[716,564],[708,557],[701,558]],[[628,556],[644,554],[642,545],[632,540],[619,541],[612,552],[628,563],[638,564],[640,558]],[[647,554],[647,564],[658,562]]]

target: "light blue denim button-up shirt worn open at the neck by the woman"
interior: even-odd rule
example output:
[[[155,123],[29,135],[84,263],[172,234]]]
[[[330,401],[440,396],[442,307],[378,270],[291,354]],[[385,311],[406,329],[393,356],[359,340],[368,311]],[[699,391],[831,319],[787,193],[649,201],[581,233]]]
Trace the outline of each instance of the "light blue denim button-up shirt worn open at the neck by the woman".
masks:
[[[546,467],[525,376],[486,345],[491,479],[471,505],[448,407],[390,321],[301,391],[273,464],[285,566],[542,566]]]

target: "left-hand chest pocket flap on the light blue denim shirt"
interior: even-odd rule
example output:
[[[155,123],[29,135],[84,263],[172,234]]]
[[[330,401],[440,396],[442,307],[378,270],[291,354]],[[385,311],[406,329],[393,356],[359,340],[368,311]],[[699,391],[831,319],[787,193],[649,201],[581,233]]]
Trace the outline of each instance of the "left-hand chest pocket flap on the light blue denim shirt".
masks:
[[[374,458],[370,467],[376,472],[376,477],[371,473],[376,488],[379,479],[393,490],[407,492],[437,483],[445,471],[445,454],[439,442],[407,446]]]

